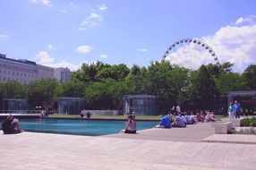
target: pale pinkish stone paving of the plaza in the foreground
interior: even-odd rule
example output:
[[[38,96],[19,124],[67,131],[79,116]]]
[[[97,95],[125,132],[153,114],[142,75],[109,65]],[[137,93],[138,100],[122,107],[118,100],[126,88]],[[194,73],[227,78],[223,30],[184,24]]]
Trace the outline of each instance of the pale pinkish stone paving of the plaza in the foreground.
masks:
[[[186,129],[149,129],[138,134],[98,137],[38,132],[1,134],[0,169],[256,169],[253,142],[223,143],[223,139],[229,140],[232,135],[216,136],[210,127],[209,123],[198,123]],[[201,133],[194,133],[196,138],[191,134],[195,129],[201,129]],[[243,137],[237,136],[236,140]],[[210,139],[201,142],[202,138]],[[210,142],[216,139],[221,139],[220,143]],[[254,136],[246,139],[256,140]]]

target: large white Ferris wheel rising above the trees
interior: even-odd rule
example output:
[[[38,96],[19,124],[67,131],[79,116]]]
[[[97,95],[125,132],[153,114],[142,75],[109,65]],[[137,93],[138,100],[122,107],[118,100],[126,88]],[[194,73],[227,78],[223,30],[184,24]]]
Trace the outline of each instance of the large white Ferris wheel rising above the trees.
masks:
[[[202,64],[219,64],[213,49],[197,38],[176,41],[166,50],[163,60],[191,70],[198,69]]]

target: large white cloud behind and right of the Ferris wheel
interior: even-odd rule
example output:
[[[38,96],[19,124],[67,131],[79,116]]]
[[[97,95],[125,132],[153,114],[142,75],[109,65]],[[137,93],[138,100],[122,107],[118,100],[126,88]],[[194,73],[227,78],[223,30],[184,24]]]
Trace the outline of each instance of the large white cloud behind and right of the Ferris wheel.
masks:
[[[249,18],[250,22],[246,25],[227,25],[220,28],[214,35],[201,38],[218,55],[220,64],[234,63],[235,72],[243,72],[249,64],[255,64],[256,21],[252,20],[252,16]],[[236,23],[244,24],[244,21],[249,21],[249,19],[238,19]],[[171,64],[197,69],[201,64],[215,63],[214,57],[208,50],[193,43],[189,46],[175,46],[171,51],[173,53],[166,57]]]

